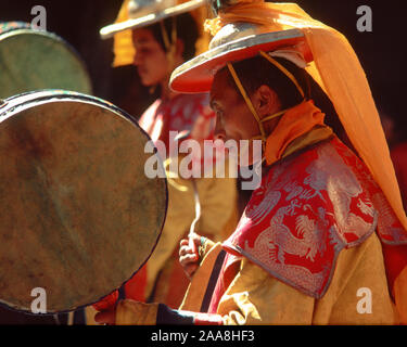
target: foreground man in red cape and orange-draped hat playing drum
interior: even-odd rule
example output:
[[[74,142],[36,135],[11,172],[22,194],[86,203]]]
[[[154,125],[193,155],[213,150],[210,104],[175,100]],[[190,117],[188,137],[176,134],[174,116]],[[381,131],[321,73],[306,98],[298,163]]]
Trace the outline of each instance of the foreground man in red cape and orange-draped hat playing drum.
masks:
[[[181,242],[192,282],[178,310],[123,300],[115,316],[97,319],[406,323],[407,219],[352,47],[294,3],[216,1],[216,11],[209,50],[178,67],[170,86],[211,90],[217,138],[262,141],[262,159],[250,163],[262,170],[260,187],[222,244],[195,237],[198,259]],[[332,117],[356,153],[326,124]]]

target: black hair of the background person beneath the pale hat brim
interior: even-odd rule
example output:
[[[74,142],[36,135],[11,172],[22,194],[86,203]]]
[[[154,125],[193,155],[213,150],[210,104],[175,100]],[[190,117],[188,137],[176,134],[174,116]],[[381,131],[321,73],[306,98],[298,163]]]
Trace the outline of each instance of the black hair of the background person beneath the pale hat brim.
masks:
[[[164,20],[164,27],[168,34],[169,40],[171,40],[174,21],[177,28],[177,38],[183,42],[182,57],[188,61],[195,55],[195,42],[199,37],[196,22],[190,13],[182,13],[175,17]],[[154,38],[161,44],[163,50],[166,51],[160,22],[152,24],[147,28],[153,33]]]

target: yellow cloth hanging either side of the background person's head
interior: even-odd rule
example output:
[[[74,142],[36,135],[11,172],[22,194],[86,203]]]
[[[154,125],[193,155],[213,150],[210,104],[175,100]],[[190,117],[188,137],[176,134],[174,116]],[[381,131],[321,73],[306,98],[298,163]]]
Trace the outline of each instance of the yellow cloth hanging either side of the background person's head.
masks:
[[[122,23],[129,20],[127,7],[130,0],[124,0],[120,11],[118,12],[117,18],[115,23]],[[188,0],[179,0],[177,3],[183,3]],[[203,29],[203,23],[207,17],[207,9],[206,7],[201,7],[194,11],[191,11],[191,15],[194,17],[198,28],[199,28],[199,39],[195,43],[196,54],[201,54],[202,52],[207,50],[209,44],[211,35]],[[187,29],[187,28],[186,28]],[[136,49],[132,46],[132,38],[131,38],[131,29],[127,29],[120,33],[117,33],[114,38],[113,43],[113,52],[114,52],[114,61],[113,67],[124,66],[124,65],[131,65],[135,60]]]

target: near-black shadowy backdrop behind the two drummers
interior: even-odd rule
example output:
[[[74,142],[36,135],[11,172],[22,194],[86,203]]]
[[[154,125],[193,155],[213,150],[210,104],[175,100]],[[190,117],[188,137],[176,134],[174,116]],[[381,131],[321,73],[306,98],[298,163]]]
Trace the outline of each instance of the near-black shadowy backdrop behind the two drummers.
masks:
[[[311,16],[343,33],[358,54],[370,82],[378,108],[407,129],[404,115],[404,55],[406,21],[400,0],[298,0]],[[34,5],[47,10],[47,29],[69,42],[85,61],[93,82],[94,95],[106,99],[136,117],[155,95],[140,86],[135,67],[112,68],[113,40],[101,40],[99,29],[114,22],[122,0],[0,0],[0,21],[30,22]],[[356,10],[372,10],[372,33],[359,33]],[[407,131],[402,131],[407,132]],[[406,134],[407,136],[407,134]]]

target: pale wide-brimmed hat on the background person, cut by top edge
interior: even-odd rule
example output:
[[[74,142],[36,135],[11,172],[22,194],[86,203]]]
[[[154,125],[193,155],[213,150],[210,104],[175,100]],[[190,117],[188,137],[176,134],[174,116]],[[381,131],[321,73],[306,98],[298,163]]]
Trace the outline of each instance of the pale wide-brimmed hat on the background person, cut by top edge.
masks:
[[[205,3],[206,0],[191,0],[181,4],[177,4],[176,0],[130,0],[127,5],[129,20],[103,27],[100,36],[102,39],[107,39],[127,29],[148,26],[193,11]]]

